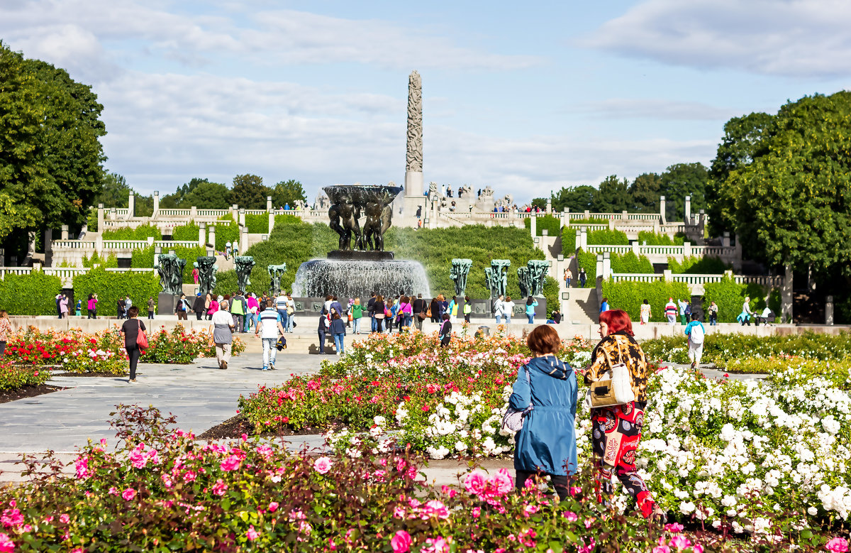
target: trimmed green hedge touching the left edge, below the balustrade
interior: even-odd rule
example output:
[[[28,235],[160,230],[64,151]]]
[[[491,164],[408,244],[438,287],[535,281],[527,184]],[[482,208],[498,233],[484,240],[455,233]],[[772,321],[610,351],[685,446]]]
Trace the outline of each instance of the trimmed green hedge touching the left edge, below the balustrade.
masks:
[[[0,280],[0,309],[10,315],[55,315],[56,295],[62,291],[62,280],[42,271],[30,274],[7,274]],[[69,298],[68,309],[73,312]]]

